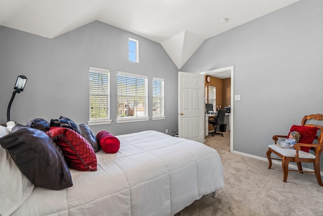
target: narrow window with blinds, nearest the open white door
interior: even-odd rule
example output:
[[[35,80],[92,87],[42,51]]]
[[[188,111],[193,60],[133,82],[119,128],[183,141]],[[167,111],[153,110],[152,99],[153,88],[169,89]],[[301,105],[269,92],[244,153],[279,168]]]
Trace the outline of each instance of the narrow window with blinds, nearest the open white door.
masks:
[[[164,116],[164,79],[152,78],[152,120],[165,119]]]

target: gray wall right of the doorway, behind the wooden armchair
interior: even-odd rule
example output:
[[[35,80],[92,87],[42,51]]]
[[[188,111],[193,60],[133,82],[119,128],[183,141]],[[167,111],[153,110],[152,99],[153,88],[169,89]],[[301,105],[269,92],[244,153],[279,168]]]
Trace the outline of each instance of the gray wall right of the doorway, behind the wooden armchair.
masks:
[[[241,95],[234,150],[265,157],[273,135],[323,113],[323,1],[303,0],[209,38],[180,71],[232,65],[234,94]]]

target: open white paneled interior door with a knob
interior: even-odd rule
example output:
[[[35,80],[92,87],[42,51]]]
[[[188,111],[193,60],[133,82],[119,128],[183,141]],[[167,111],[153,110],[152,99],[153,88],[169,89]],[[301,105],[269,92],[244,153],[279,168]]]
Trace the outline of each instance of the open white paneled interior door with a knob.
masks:
[[[179,72],[178,136],[204,143],[204,75]]]

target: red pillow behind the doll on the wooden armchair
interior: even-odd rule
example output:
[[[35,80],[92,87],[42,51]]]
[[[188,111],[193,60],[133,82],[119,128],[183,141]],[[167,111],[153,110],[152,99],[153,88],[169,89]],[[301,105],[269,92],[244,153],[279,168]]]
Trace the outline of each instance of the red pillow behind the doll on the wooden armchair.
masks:
[[[301,139],[298,141],[299,143],[312,144],[316,137],[317,130],[317,127],[293,125],[289,133],[291,133],[292,131],[297,131],[301,135]],[[301,147],[301,150],[304,152],[309,152],[310,149],[310,147]]]

